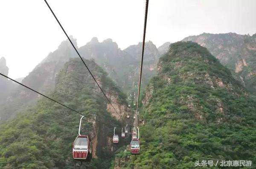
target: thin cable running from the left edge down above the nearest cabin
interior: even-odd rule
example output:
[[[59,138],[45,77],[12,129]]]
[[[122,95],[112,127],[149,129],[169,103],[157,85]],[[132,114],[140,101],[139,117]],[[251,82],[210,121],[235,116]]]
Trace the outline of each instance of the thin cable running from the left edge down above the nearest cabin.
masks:
[[[73,109],[73,108],[70,108],[70,107],[66,106],[65,104],[62,104],[62,103],[60,103],[60,102],[58,102],[58,101],[56,101],[56,100],[54,100],[54,99],[52,99],[52,98],[50,98],[50,97],[48,97],[48,96],[45,96],[44,94],[42,94],[42,93],[40,93],[40,92],[38,92],[38,91],[36,91],[36,90],[34,90],[34,89],[32,89],[32,88],[26,86],[26,85],[23,85],[22,83],[17,82],[16,80],[14,80],[14,79],[12,79],[12,78],[10,78],[10,77],[8,77],[8,76],[2,74],[2,73],[0,73],[0,75],[6,77],[7,79],[12,80],[13,82],[15,82],[15,83],[17,83],[17,84],[19,84],[19,85],[22,85],[23,87],[28,88],[29,90],[34,91],[35,93],[40,94],[41,96],[46,97],[47,99],[50,99],[51,101],[54,101],[55,103],[60,104],[61,106],[64,106],[64,107],[66,107],[66,108],[68,108],[68,109],[70,109],[70,110],[72,110],[72,111],[74,111],[74,112],[76,112],[76,113],[79,113],[80,115],[83,115],[84,117],[90,118],[90,119],[92,119],[92,120],[94,120],[94,121],[100,122],[100,123],[105,124],[105,125],[107,125],[107,126],[110,125],[110,124],[103,123],[102,121],[96,120],[96,119],[94,119],[94,118],[91,118],[91,117],[89,117],[89,116],[87,116],[87,115],[84,115],[83,113],[80,113],[79,111],[77,111],[77,110],[75,110],[75,109]]]

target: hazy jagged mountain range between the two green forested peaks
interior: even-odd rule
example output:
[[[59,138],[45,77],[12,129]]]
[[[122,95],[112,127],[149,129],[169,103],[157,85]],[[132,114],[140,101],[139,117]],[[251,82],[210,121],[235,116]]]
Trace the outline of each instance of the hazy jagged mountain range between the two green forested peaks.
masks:
[[[125,93],[131,89],[136,90],[139,77],[142,43],[131,45],[121,50],[112,39],[99,42],[94,37],[86,45],[79,48],[79,52],[87,59],[94,59],[102,68],[107,71],[111,79],[121,87]],[[154,75],[156,63],[159,59],[156,46],[151,42],[145,43],[145,56],[143,66],[143,84]]]

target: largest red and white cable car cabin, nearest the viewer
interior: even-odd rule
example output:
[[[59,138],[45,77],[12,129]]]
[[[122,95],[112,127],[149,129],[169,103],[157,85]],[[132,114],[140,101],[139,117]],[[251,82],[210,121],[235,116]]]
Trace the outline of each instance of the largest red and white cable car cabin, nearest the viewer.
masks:
[[[79,135],[73,143],[73,158],[90,161],[92,158],[92,142],[88,135]]]

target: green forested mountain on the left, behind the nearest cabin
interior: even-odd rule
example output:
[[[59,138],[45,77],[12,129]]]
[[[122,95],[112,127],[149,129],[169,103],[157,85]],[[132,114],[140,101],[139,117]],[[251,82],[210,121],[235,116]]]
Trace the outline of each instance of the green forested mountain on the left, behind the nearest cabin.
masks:
[[[81,133],[93,141],[93,161],[84,165],[108,168],[108,158],[118,148],[112,143],[113,127],[125,120],[129,110],[125,95],[107,73],[94,61],[84,60],[117,111],[111,109],[79,58],[70,59],[59,71],[49,96],[98,120],[84,118],[82,123]],[[79,114],[49,99],[39,99],[34,107],[0,126],[0,168],[84,168],[73,160],[71,152],[79,119]],[[128,143],[123,140],[120,144]]]

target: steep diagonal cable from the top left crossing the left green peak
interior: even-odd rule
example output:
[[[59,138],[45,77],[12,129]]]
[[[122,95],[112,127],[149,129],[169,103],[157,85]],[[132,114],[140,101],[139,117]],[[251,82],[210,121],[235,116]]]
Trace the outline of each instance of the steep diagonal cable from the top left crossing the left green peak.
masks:
[[[73,48],[75,49],[76,53],[78,54],[78,56],[80,57],[81,61],[84,63],[85,67],[87,68],[87,70],[89,71],[90,75],[93,77],[93,80],[96,82],[96,84],[98,85],[99,89],[102,91],[103,95],[105,96],[105,98],[108,100],[108,102],[111,104],[111,106],[113,107],[113,104],[111,103],[111,101],[108,99],[108,97],[106,96],[106,94],[104,93],[104,91],[102,90],[102,88],[100,87],[99,83],[96,81],[95,77],[93,76],[93,74],[91,73],[90,69],[88,68],[88,66],[86,65],[86,63],[84,62],[84,59],[81,57],[81,55],[79,54],[79,52],[77,51],[75,45],[73,44],[73,42],[70,40],[70,37],[67,35],[66,31],[64,30],[63,26],[61,25],[60,21],[58,20],[58,18],[56,17],[56,15],[54,14],[54,12],[52,11],[52,8],[49,6],[49,4],[47,3],[47,0],[44,0],[44,2],[47,4],[49,10],[52,12],[52,15],[55,17],[56,21],[58,22],[58,24],[60,25],[62,31],[64,32],[64,34],[66,35],[67,39],[70,41],[71,45],[73,46]],[[115,110],[115,112],[117,113],[115,107],[113,107],[113,109]]]

